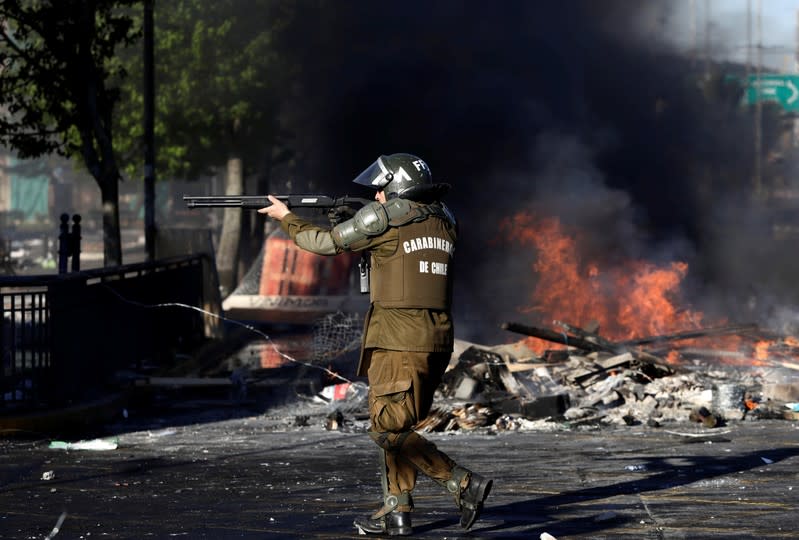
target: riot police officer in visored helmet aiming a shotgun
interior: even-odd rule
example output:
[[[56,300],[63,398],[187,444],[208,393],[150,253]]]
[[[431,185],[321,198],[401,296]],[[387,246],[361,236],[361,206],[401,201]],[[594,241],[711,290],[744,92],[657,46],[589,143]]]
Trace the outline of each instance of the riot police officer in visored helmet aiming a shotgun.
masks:
[[[369,435],[379,446],[383,506],[355,520],[367,534],[410,535],[417,473],[455,500],[472,527],[492,480],[458,465],[413,427],[430,411],[453,349],[454,216],[442,202],[448,184],[411,154],[380,156],[354,182],[375,201],[332,229],[318,227],[269,196],[259,212],[279,220],[302,249],[321,255],[368,250],[370,307],[358,375],[369,380]]]

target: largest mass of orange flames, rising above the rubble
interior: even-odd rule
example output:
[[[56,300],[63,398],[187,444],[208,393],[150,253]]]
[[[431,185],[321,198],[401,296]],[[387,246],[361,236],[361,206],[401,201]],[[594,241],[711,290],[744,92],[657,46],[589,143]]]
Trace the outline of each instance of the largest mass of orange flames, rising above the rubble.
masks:
[[[535,311],[545,321],[576,326],[596,321],[601,334],[614,341],[695,329],[702,323],[701,312],[679,307],[680,285],[688,272],[684,262],[657,266],[628,261],[603,267],[601,261],[582,260],[579,231],[569,234],[558,219],[528,213],[506,220],[502,230],[537,250],[532,306],[523,310]],[[530,340],[538,351],[553,348],[549,342]]]

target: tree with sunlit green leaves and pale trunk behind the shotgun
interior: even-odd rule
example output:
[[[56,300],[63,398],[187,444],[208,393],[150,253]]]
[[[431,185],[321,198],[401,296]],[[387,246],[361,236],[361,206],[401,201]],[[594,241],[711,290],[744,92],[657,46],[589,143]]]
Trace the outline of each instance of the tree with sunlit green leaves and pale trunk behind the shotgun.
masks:
[[[225,166],[226,194],[244,192],[244,176],[266,176],[281,144],[278,110],[287,69],[272,43],[290,18],[274,0],[173,0],[155,4],[156,169],[159,178],[194,178]],[[141,176],[141,55],[128,51],[131,77],[123,88],[120,155]],[[263,216],[254,217],[263,229]],[[226,209],[217,269],[223,294],[235,287],[242,246],[242,212]]]

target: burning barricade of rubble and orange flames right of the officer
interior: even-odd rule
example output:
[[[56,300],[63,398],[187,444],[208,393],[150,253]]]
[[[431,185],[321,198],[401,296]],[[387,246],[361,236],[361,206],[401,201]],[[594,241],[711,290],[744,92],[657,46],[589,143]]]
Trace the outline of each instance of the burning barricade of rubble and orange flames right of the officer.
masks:
[[[531,212],[509,217],[502,232],[530,253],[530,272],[518,275],[533,276],[532,291],[518,311],[552,321],[551,328],[507,322],[501,327],[521,341],[458,342],[441,399],[419,429],[516,429],[548,420],[712,428],[797,414],[799,341],[753,324],[708,325],[682,299],[687,263],[590,249],[590,231]]]

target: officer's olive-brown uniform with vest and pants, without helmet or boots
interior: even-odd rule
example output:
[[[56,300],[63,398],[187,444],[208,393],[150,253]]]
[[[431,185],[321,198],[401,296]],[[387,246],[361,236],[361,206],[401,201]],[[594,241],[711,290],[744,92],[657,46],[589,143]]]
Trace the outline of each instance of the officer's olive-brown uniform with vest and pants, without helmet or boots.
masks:
[[[281,227],[308,251],[345,251],[329,230],[293,213],[283,218]],[[456,466],[413,431],[429,413],[452,354],[451,263],[456,239],[454,223],[431,215],[389,226],[349,246],[371,255],[371,304],[358,375],[369,379],[369,434],[385,450],[383,487],[386,495],[395,496],[393,506],[387,502],[382,512],[412,508],[417,471],[446,487]]]

